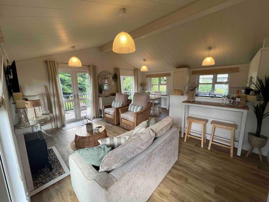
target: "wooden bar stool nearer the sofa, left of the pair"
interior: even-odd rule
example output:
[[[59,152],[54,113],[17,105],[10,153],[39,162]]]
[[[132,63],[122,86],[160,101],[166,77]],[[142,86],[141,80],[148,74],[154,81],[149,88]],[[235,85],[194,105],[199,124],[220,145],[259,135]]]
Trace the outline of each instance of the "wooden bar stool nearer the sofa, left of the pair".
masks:
[[[186,128],[186,134],[185,134],[185,139],[184,142],[186,142],[187,137],[192,137],[198,140],[201,140],[201,147],[203,148],[204,142],[206,142],[206,123],[208,122],[208,119],[201,119],[201,118],[196,118],[196,117],[187,117],[188,123],[187,123],[187,128]],[[191,129],[191,124],[192,123],[198,123],[202,125],[202,137],[196,137],[194,135],[190,135],[190,129]],[[200,135],[200,133],[193,132],[195,134]]]

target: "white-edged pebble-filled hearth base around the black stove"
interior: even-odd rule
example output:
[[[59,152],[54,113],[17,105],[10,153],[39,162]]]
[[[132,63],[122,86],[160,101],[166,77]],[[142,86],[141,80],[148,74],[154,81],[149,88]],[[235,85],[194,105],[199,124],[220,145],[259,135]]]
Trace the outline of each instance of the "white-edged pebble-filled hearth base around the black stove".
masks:
[[[40,192],[70,174],[69,169],[56,147],[53,146],[48,148],[48,153],[51,158],[50,164],[52,166],[52,171],[50,171],[49,168],[43,168],[39,170],[37,174],[32,175],[34,190],[30,192],[30,196]]]

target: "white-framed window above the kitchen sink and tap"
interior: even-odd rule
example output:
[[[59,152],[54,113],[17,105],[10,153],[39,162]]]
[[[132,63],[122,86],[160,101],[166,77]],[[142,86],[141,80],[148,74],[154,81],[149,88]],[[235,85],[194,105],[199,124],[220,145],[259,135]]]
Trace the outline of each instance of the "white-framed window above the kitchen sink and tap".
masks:
[[[197,83],[196,93],[209,93],[212,89],[215,89],[214,94],[229,92],[229,74],[198,75]]]

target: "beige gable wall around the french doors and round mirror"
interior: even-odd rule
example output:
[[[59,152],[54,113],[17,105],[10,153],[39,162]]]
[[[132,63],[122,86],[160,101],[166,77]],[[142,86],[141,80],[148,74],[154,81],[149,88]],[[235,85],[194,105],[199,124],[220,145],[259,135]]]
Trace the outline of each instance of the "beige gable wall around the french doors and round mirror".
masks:
[[[36,95],[38,93],[44,93],[44,85],[48,85],[48,72],[44,60],[56,60],[57,62],[68,63],[72,56],[76,56],[80,59],[84,65],[94,64],[97,66],[97,75],[104,71],[110,71],[114,74],[114,68],[119,67],[123,69],[133,70],[130,64],[124,62],[119,57],[115,56],[112,52],[103,53],[102,65],[102,52],[98,49],[88,49],[83,51],[76,51],[72,53],[58,54],[53,56],[40,57],[36,59],[30,59],[25,61],[16,62],[19,84],[22,86],[25,95]],[[87,70],[87,66],[82,67],[69,67],[68,64],[59,64],[61,69],[71,70]],[[121,70],[122,76],[133,76],[133,71]],[[139,75],[138,75],[139,77]],[[138,80],[139,81],[139,80]],[[116,92],[116,85],[110,91],[105,91],[105,96],[109,96],[110,93]],[[103,93],[104,94],[104,93]]]

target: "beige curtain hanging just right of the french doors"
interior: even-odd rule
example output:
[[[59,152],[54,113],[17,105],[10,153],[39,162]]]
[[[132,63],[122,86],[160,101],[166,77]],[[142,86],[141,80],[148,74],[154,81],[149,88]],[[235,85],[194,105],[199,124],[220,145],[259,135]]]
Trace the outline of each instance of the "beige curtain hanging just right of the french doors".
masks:
[[[90,96],[91,96],[91,117],[92,118],[99,118],[100,111],[99,111],[99,99],[98,99],[98,82],[97,82],[97,75],[96,75],[96,66],[91,65],[88,68],[89,71],[89,80],[90,80]]]

